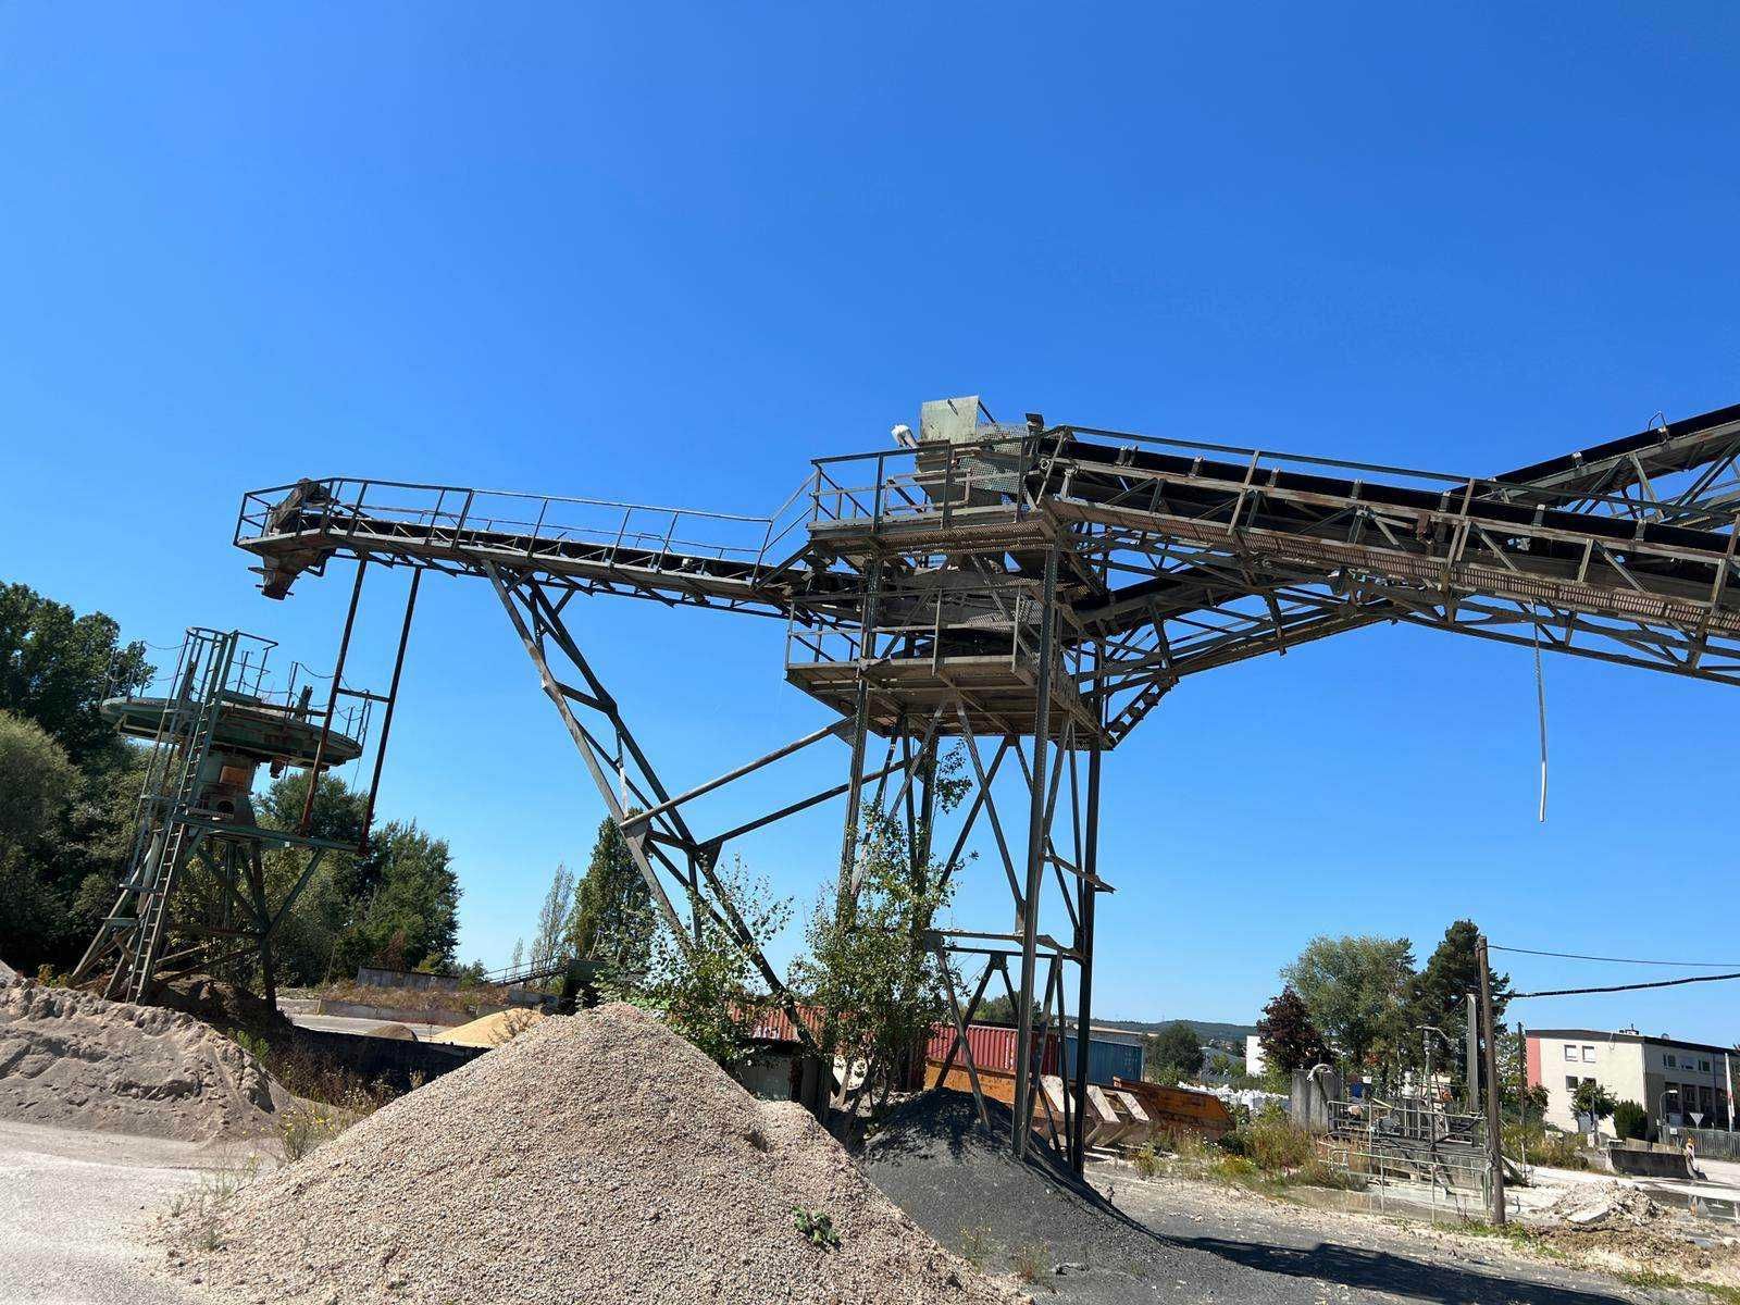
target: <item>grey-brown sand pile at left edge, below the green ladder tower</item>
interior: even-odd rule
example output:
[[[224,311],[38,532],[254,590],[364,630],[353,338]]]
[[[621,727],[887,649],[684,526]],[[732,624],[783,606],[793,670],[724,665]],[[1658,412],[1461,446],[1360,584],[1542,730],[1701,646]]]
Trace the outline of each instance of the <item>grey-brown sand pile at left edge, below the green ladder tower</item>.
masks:
[[[0,987],[0,1119],[228,1141],[271,1133],[289,1103],[258,1060],[188,1014]]]

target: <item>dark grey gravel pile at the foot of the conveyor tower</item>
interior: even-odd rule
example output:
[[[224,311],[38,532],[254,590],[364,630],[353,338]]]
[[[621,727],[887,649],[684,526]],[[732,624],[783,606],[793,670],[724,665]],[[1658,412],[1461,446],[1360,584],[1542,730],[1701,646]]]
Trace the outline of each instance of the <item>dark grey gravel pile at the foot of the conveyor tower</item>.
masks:
[[[1157,1237],[1075,1178],[1046,1147],[1009,1150],[1013,1112],[987,1131],[966,1093],[900,1107],[860,1157],[914,1223],[992,1272],[1034,1272],[1030,1289],[1079,1302],[1171,1300],[1197,1256]]]

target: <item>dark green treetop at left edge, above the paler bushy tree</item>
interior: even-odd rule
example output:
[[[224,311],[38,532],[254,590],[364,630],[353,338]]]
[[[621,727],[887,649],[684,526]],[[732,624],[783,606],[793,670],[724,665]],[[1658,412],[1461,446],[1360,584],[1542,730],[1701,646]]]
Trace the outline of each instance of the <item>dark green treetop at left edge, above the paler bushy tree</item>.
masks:
[[[77,616],[28,585],[0,585],[0,710],[35,720],[75,766],[115,759],[120,741],[103,699],[137,693],[151,673],[144,644],[124,646],[110,616]]]

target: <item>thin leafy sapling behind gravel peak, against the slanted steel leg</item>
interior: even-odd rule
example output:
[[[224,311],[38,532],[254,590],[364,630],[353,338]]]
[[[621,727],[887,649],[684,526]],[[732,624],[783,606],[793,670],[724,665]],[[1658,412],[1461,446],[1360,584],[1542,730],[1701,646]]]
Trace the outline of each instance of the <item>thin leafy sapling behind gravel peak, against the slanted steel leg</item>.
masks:
[[[705,908],[684,938],[659,927],[644,981],[623,995],[659,1011],[672,1028],[731,1068],[743,1060],[750,1032],[771,1006],[750,947],[785,927],[792,903],[773,898],[766,880],[752,879],[740,860],[713,873],[736,903],[748,938]]]

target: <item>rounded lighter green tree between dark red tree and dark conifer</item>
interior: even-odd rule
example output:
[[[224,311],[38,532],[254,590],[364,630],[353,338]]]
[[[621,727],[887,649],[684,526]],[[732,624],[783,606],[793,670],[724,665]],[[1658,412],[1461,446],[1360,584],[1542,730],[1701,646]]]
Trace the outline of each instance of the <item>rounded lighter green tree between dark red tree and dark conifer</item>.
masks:
[[[1312,938],[1281,971],[1343,1063],[1364,1070],[1402,1054],[1413,992],[1406,938]]]

